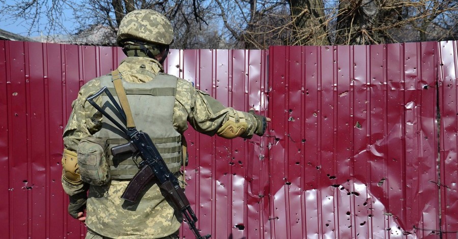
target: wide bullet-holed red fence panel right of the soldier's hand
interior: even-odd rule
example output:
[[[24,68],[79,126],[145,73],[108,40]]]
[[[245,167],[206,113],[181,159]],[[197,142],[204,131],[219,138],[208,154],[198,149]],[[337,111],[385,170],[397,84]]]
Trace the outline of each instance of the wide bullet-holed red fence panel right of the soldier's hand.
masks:
[[[272,237],[437,238],[436,48],[270,48]]]

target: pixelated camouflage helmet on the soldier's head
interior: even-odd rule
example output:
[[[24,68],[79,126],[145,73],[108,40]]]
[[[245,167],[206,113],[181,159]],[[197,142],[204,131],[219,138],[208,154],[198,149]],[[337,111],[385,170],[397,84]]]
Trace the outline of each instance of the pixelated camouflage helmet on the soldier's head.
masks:
[[[174,29],[159,12],[151,9],[134,10],[121,20],[116,38],[119,46],[128,40],[170,45],[174,41]]]

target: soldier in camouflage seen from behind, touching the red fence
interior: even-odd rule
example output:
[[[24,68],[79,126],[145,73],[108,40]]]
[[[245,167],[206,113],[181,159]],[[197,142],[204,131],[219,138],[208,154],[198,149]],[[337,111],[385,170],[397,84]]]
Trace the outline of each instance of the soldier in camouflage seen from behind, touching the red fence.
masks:
[[[87,101],[103,86],[112,88],[113,78],[122,79],[137,128],[152,137],[179,180],[187,161],[183,138],[187,122],[198,132],[232,139],[261,136],[270,121],[254,110],[226,108],[190,82],[162,73],[173,34],[168,19],[156,11],[127,14],[117,42],[128,57],[112,74],[84,84],[72,103],[63,135],[62,185],[70,198],[69,214],[88,227],[86,238],[178,238],[182,222],[155,182],[138,202],[121,199],[141,159],[132,154],[110,155],[111,147],[127,141]],[[103,105],[103,97],[96,103]]]

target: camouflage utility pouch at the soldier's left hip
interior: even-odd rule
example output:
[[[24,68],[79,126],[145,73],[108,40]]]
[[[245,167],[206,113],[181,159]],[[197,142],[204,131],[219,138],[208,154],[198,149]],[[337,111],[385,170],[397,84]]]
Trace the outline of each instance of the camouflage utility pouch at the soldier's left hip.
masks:
[[[77,150],[81,181],[96,186],[110,181],[105,152],[105,139],[92,136],[81,139]]]

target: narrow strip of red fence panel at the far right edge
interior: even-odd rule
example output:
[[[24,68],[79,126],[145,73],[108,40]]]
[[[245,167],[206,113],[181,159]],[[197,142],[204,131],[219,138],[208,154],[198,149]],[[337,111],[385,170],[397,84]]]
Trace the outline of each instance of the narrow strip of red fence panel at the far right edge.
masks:
[[[457,42],[441,42],[439,71],[441,230],[443,238],[458,234],[458,51]]]

